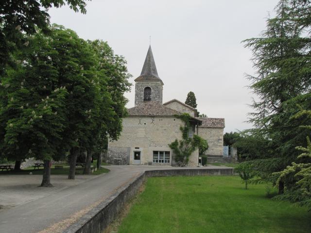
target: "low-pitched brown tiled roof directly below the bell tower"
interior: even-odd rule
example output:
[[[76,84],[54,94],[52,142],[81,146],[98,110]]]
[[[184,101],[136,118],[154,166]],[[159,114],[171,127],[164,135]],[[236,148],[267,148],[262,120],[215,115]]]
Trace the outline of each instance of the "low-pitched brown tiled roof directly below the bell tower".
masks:
[[[181,112],[152,100],[139,104],[133,108],[129,108],[127,111],[129,116],[176,116],[182,114]],[[191,118],[195,121],[201,122],[201,119],[195,117]]]

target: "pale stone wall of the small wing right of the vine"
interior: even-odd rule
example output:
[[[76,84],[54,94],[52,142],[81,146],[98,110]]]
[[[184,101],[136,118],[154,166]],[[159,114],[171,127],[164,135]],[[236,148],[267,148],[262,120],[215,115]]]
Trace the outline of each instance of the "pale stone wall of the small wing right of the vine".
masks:
[[[224,129],[222,128],[199,128],[199,136],[207,140],[207,155],[223,155]]]

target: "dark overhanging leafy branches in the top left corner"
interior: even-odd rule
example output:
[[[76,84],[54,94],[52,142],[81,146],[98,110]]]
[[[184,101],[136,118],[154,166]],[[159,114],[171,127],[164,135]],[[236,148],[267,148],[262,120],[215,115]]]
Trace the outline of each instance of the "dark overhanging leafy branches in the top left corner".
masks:
[[[47,10],[65,4],[78,12],[86,13],[85,0],[2,0],[0,3],[0,73],[7,64],[14,65],[10,53],[27,47],[26,34],[34,34],[37,29],[47,33],[50,16]]]

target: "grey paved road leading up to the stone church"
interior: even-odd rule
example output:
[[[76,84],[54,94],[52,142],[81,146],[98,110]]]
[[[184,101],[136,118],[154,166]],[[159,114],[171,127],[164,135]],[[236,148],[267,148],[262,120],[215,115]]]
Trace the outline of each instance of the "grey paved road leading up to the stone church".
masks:
[[[108,198],[118,188],[131,182],[144,170],[172,169],[173,167],[107,166],[107,168],[110,169],[109,173],[90,178],[52,194],[48,193],[37,200],[2,210],[0,212],[0,232],[37,233],[44,229],[46,230],[42,233],[59,232],[62,227],[65,228],[72,223],[72,219],[81,217],[94,204]],[[209,168],[220,167],[209,166]]]

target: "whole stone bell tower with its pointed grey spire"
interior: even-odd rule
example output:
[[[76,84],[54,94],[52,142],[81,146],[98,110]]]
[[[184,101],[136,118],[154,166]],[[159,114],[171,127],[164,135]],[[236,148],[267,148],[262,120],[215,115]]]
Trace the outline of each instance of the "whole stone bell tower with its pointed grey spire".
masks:
[[[155,59],[149,46],[140,76],[135,79],[135,106],[150,100],[162,104],[163,85],[157,74]]]

